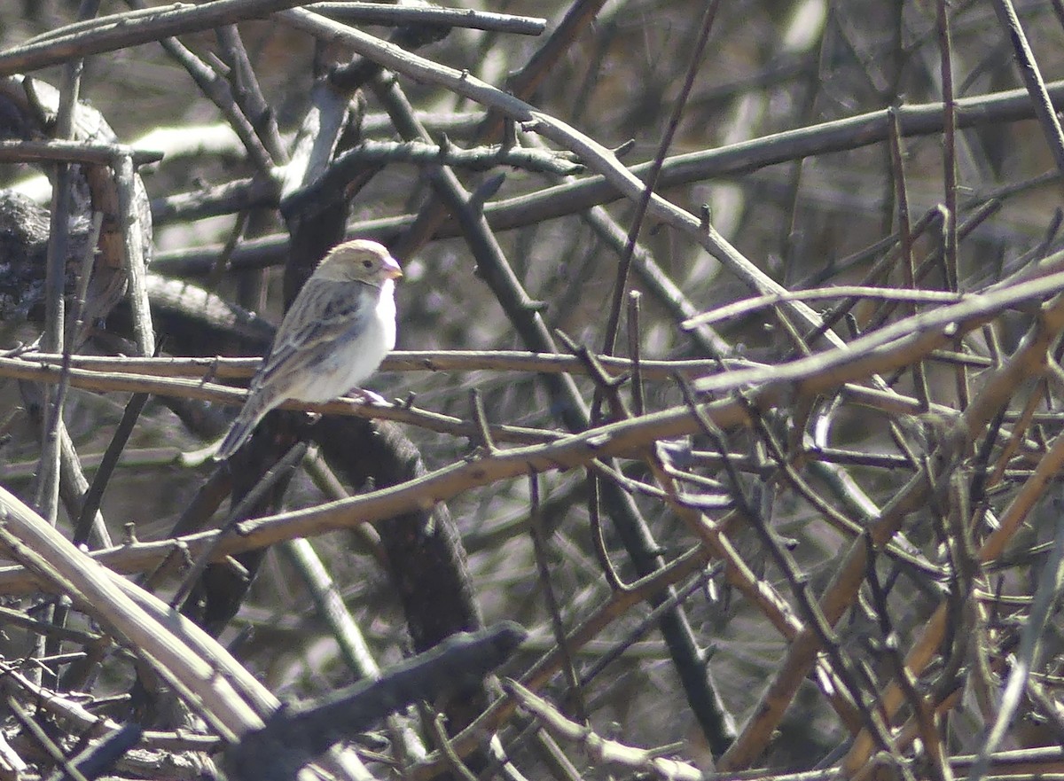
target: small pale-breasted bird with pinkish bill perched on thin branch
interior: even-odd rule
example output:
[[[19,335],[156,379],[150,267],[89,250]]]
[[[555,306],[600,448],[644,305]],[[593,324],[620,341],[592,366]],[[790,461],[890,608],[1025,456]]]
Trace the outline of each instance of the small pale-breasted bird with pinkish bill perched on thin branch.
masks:
[[[296,296],[222,441],[228,459],[288,399],[330,401],[364,382],[396,345],[398,262],[377,242],[334,247]]]

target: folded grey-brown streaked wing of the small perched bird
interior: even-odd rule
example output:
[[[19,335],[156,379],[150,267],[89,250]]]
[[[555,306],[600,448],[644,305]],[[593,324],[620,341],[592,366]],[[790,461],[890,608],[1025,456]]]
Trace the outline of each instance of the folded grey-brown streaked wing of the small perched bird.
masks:
[[[345,331],[361,331],[373,315],[371,285],[310,279],[281,322],[269,355],[251,383],[259,387],[280,369],[294,368],[317,351],[319,345]]]

